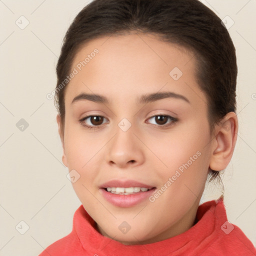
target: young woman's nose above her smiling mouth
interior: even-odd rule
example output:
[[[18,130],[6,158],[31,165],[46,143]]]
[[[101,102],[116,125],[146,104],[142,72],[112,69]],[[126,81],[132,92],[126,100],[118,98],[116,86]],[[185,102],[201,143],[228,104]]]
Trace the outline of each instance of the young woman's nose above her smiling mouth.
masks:
[[[145,160],[143,144],[132,127],[123,131],[117,127],[113,138],[107,143],[107,162],[119,168],[135,167]]]

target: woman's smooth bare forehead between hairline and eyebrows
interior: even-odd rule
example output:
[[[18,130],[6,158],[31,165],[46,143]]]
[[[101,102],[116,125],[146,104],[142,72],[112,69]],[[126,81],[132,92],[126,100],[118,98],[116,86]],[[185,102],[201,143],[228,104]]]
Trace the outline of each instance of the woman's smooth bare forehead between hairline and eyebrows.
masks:
[[[82,91],[116,99],[118,95],[123,98],[163,87],[186,94],[191,86],[199,89],[194,54],[151,34],[103,36],[88,41],[77,51],[71,70],[74,68],[77,74],[66,90],[68,102]]]

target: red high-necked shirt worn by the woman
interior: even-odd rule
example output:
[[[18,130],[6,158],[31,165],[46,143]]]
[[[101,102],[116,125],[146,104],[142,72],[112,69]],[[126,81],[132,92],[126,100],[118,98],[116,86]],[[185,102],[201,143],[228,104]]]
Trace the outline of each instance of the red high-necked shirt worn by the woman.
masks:
[[[101,235],[95,221],[80,207],[70,234],[49,245],[39,256],[255,256],[256,250],[241,229],[227,221],[222,199],[199,205],[198,220],[174,237],[143,245],[124,245]]]

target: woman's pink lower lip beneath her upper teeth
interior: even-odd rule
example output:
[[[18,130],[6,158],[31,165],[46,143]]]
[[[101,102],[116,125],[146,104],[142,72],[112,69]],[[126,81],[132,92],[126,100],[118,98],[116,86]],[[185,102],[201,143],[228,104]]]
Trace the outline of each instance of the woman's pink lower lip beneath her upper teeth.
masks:
[[[100,188],[99,191],[102,193],[103,197],[113,205],[119,207],[130,207],[148,199],[155,189],[156,188],[152,188],[145,192],[141,191],[134,194],[113,194],[106,191],[104,188]]]

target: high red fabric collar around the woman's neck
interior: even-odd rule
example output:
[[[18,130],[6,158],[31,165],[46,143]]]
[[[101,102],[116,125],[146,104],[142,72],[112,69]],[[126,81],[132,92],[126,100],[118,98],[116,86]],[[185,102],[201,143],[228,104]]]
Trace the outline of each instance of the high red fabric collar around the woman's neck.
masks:
[[[220,229],[227,220],[223,199],[212,200],[199,205],[196,213],[197,222],[187,231],[155,243],[144,245],[124,245],[101,235],[95,229],[95,221],[84,207],[76,210],[73,219],[73,231],[76,232],[83,248],[98,255],[180,255],[196,251],[203,243],[210,243],[225,233]]]

